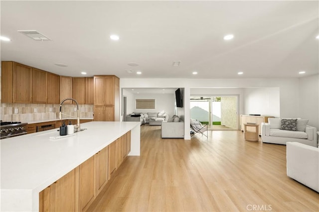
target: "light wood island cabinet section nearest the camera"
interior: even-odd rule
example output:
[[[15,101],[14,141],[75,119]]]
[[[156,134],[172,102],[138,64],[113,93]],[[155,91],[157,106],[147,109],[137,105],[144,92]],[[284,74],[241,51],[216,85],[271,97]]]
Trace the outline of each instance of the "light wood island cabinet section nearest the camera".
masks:
[[[39,211],[79,211],[79,167],[39,193]]]

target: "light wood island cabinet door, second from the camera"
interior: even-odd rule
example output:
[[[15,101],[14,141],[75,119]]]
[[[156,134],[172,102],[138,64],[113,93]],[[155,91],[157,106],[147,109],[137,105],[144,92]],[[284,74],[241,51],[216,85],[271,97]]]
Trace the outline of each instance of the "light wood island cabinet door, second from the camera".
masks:
[[[79,210],[85,211],[95,198],[94,156],[79,166]]]

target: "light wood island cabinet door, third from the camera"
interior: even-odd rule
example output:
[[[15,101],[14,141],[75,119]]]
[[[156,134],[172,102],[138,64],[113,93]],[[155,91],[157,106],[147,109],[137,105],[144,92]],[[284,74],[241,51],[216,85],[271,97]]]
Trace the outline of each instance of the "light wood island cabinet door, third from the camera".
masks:
[[[101,192],[108,182],[108,146],[94,155],[95,157],[95,193]]]

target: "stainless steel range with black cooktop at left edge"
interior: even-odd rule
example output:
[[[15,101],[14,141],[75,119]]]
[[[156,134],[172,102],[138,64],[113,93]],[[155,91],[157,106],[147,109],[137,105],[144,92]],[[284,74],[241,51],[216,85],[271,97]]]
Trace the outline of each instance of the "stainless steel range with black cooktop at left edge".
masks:
[[[21,122],[0,122],[0,139],[10,138],[18,135],[26,134],[26,125],[28,123]]]

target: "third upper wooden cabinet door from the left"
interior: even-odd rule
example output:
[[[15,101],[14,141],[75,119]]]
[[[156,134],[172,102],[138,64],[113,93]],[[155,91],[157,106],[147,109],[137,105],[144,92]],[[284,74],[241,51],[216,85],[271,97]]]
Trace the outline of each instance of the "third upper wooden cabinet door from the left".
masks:
[[[60,104],[60,76],[47,73],[47,104]]]

